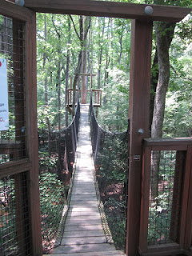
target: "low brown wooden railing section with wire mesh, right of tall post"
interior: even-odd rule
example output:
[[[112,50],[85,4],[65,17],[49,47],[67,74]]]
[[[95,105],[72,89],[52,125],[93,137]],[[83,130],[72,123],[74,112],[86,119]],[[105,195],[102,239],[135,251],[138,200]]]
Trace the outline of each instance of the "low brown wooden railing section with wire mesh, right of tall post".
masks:
[[[158,173],[157,194],[154,195],[152,179],[155,169]],[[192,138],[145,139],[140,253],[153,256],[178,253],[191,255],[191,242]]]

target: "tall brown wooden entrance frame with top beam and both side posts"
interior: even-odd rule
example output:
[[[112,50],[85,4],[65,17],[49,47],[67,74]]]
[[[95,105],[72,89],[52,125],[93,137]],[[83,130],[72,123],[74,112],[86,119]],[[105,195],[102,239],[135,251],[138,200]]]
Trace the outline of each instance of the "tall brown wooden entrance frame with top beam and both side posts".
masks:
[[[36,67],[35,67],[35,14],[5,0],[0,0],[0,13],[11,18],[18,18],[26,22],[26,54],[27,69],[27,124],[28,151],[30,162],[21,162],[24,166],[30,164],[30,197],[31,217],[33,228],[34,255],[41,254],[41,238],[39,224],[39,200],[38,200],[38,140],[36,127]],[[88,16],[106,16],[114,18],[132,18],[131,32],[131,70],[130,70],[130,171],[129,171],[129,198],[127,218],[126,254],[134,256],[138,253],[138,238],[140,229],[141,210],[141,182],[142,182],[142,139],[149,137],[149,97],[150,97],[150,54],[152,42],[152,22],[166,21],[179,22],[190,13],[191,9],[174,6],[152,6],[153,14],[146,15],[146,5],[136,5],[122,2],[100,2],[90,0],[25,0],[25,6],[31,10],[57,14],[83,14]],[[32,28],[32,30],[30,30]],[[138,75],[139,74],[139,75]],[[135,104],[139,102],[139,104]],[[138,134],[138,129],[144,130]],[[163,146],[163,145],[162,145]],[[170,146],[173,148],[173,146]],[[185,145],[180,147],[184,150]],[[147,153],[149,154],[149,152]],[[189,156],[188,156],[189,158]],[[144,159],[144,166],[149,165],[149,160]],[[190,162],[190,160],[189,160]],[[12,166],[7,165],[11,172]],[[17,167],[18,168],[18,167]],[[28,168],[28,166],[27,166]],[[12,169],[14,171],[14,168]],[[18,170],[18,169],[17,169]],[[21,170],[21,171],[22,171]],[[189,167],[190,170],[190,167]],[[189,171],[188,171],[189,172]],[[188,176],[192,182],[191,174]],[[147,177],[146,177],[147,179]],[[186,209],[186,223],[189,225],[190,238],[184,238],[184,245],[189,246],[191,241],[191,188],[188,207]],[[188,190],[187,190],[188,191]],[[186,194],[187,194],[186,191]],[[187,199],[187,198],[186,198]],[[187,201],[187,200],[186,200]],[[35,206],[35,209],[34,209]],[[146,209],[142,206],[142,210]],[[36,222],[36,217],[38,220]],[[144,222],[145,215],[142,216]],[[143,224],[144,225],[144,224]],[[144,242],[145,238],[141,238]],[[154,255],[154,254],[151,254]],[[160,255],[160,254],[159,254]],[[165,254],[162,254],[165,255]]]

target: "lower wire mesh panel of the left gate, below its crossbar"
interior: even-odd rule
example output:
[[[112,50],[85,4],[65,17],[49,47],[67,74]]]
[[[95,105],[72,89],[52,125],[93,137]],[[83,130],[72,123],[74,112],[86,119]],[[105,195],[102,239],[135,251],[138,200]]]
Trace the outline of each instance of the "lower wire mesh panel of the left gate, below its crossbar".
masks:
[[[0,179],[0,254],[31,255],[27,173]]]

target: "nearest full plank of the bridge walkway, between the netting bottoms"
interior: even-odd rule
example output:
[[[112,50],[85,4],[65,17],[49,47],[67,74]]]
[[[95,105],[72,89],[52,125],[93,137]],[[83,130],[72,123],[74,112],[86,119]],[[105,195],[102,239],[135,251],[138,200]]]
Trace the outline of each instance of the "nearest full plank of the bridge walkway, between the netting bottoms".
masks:
[[[86,253],[95,251],[111,251],[115,250],[114,246],[110,244],[86,244],[86,245],[70,245],[70,246],[58,246],[54,249],[54,254],[72,254],[72,253]]]

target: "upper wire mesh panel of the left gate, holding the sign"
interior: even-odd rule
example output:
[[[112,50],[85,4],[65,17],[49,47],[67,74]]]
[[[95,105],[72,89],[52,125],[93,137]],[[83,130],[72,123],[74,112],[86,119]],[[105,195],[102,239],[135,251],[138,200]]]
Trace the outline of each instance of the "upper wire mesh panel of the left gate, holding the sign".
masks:
[[[26,156],[23,27],[22,22],[0,15],[0,71],[8,83],[7,102],[6,83],[0,96],[0,163]]]

